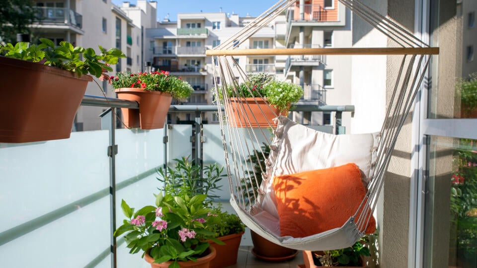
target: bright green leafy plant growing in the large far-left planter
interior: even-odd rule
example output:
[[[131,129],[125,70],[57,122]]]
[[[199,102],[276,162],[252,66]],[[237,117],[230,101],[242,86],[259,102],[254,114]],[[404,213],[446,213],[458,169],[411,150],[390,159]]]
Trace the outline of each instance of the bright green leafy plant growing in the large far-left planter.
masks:
[[[14,46],[10,43],[0,45],[0,55],[58,67],[75,72],[78,76],[91,74],[100,79],[109,77],[104,73],[113,70],[109,65],[117,64],[119,58],[126,57],[116,48],[106,51],[99,46],[101,53],[96,54],[92,48],[75,47],[66,41],[62,41],[60,46],[55,46],[53,41],[46,38],[40,38],[40,42],[38,45],[26,42],[18,42]]]

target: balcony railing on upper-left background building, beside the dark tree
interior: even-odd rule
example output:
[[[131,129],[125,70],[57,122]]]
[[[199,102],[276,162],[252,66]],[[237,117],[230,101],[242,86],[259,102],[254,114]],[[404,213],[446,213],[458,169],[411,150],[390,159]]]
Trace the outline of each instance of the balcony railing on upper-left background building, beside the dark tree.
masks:
[[[52,23],[82,28],[82,16],[72,9],[64,7],[35,7],[40,17],[39,24]]]

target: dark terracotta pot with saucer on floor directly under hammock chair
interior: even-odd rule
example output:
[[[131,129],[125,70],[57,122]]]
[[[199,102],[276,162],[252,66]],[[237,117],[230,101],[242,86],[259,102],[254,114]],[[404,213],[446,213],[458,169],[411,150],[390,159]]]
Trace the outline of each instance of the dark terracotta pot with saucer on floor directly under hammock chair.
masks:
[[[297,256],[298,251],[277,245],[250,230],[253,248],[252,254],[258,259],[270,262],[284,262]]]

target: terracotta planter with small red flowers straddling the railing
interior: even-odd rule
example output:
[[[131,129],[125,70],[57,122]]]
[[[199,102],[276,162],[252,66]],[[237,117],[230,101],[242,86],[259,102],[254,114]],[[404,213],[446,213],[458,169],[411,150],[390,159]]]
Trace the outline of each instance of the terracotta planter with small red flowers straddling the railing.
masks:
[[[122,108],[128,128],[162,129],[172,98],[186,99],[194,91],[189,83],[168,71],[119,72],[110,77],[118,98],[139,103],[137,109]]]

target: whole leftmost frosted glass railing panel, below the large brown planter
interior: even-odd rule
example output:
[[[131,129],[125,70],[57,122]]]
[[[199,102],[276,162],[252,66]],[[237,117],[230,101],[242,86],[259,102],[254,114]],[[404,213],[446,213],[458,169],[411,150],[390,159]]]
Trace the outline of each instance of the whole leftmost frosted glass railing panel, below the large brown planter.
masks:
[[[1,267],[84,267],[109,248],[108,135],[0,144]]]

